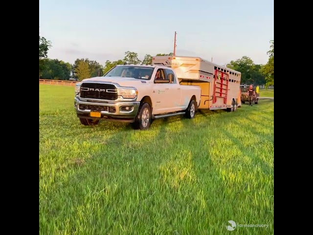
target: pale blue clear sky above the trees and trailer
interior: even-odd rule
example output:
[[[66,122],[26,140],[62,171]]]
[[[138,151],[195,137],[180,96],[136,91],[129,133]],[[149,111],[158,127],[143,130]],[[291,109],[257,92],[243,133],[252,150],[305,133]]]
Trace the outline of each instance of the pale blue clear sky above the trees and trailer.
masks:
[[[266,64],[274,40],[274,0],[39,0],[48,57],[104,65],[126,51],[199,56],[219,65],[243,56]]]

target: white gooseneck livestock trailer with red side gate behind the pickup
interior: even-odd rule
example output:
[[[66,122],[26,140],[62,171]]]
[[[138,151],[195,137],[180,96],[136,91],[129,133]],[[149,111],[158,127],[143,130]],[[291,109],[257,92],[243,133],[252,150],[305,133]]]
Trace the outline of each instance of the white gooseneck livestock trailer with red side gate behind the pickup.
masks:
[[[172,68],[180,85],[200,86],[199,109],[227,109],[232,112],[241,107],[239,71],[189,56],[154,56],[152,64]]]

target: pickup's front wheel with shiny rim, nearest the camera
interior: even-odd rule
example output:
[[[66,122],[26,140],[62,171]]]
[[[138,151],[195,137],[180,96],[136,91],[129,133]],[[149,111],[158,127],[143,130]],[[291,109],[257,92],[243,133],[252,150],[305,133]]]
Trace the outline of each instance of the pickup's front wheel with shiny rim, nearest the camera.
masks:
[[[148,130],[151,125],[151,107],[148,103],[142,103],[139,106],[139,110],[135,121],[133,124],[133,128],[135,130]]]

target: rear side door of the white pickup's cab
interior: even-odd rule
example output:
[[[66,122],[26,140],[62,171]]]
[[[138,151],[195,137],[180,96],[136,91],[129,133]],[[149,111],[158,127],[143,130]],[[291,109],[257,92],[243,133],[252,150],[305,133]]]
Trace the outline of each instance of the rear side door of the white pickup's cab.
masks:
[[[172,70],[165,69],[166,78],[169,79],[169,74],[171,74],[171,83],[167,83],[167,88],[169,91],[169,99],[167,101],[168,103],[168,109],[170,109],[172,112],[178,111],[181,107],[181,89],[179,83],[177,83],[177,77],[175,77],[175,74]]]

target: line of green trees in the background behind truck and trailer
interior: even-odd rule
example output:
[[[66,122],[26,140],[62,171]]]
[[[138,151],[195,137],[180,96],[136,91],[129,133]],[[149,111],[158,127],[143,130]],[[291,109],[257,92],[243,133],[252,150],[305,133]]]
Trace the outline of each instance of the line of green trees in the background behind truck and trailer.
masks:
[[[71,65],[62,60],[47,58],[48,50],[51,47],[50,41],[39,36],[39,77],[42,79],[68,80],[69,78],[76,78],[81,81],[85,78],[102,76],[114,66],[123,65],[124,63],[150,65],[153,57],[146,54],[141,61],[138,59],[136,52],[126,51],[123,59],[107,60],[104,65],[88,58],[78,58]],[[156,56],[164,55],[171,56],[173,53],[156,54]],[[241,84],[274,85],[274,40],[270,41],[268,56],[268,63],[265,65],[254,64],[251,58],[243,56],[235,61],[230,61],[226,66],[241,72]]]

